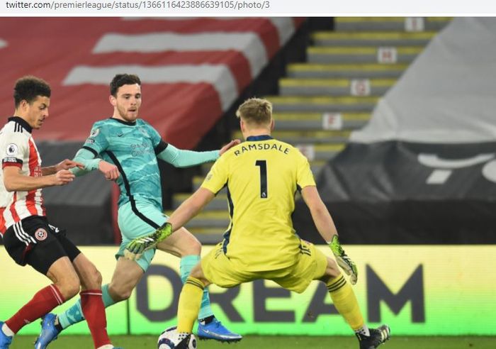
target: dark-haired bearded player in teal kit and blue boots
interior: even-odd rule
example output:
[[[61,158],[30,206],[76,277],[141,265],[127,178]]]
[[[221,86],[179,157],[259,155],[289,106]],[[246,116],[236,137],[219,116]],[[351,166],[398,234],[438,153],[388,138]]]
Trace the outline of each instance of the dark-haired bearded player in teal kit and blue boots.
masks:
[[[220,150],[194,152],[179,150],[162,140],[149,123],[137,118],[141,105],[141,82],[130,74],[115,75],[111,82],[110,102],[114,107],[111,118],[94,123],[89,138],[74,160],[85,165],[84,172],[100,170],[106,179],[115,180],[120,188],[118,225],[122,243],[116,254],[117,264],[110,284],[102,287],[103,303],[111,306],[128,299],[152,262],[155,250],[148,250],[140,260],[123,258],[125,246],[134,238],[146,236],[164,224],[162,189],[157,158],[175,167],[188,167],[216,160],[222,153],[237,145],[233,140]],[[74,171],[77,172],[77,171]],[[81,174],[81,173],[76,173]],[[162,241],[157,249],[181,258],[183,282],[191,268],[200,260],[201,244],[186,229]],[[55,316],[43,319],[42,331],[35,349],[46,348],[64,328],[84,320],[81,302]],[[222,326],[210,309],[208,291],[203,294],[198,315],[198,336],[222,342],[241,340],[242,336]]]

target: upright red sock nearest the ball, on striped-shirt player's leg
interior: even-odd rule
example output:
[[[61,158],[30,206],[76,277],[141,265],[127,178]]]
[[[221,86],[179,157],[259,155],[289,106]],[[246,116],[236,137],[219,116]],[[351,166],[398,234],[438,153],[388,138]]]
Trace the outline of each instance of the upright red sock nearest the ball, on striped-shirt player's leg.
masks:
[[[101,289],[86,289],[81,294],[81,309],[88,323],[95,348],[111,344],[107,334],[105,306],[101,299]]]

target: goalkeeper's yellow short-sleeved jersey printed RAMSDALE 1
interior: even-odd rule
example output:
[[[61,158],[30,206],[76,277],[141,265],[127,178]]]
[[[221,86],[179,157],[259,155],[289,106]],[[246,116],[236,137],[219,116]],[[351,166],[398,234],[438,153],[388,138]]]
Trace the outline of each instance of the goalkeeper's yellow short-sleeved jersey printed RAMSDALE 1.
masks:
[[[230,226],[224,252],[241,270],[293,265],[300,239],[293,228],[295,192],[315,186],[308,160],[297,148],[269,135],[248,137],[222,155],[202,187],[227,187]]]

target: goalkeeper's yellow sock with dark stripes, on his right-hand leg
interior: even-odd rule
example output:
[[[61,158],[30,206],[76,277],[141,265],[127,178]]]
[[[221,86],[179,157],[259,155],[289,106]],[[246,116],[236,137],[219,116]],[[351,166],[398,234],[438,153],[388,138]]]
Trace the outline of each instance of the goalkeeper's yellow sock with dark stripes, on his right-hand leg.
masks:
[[[358,301],[351,285],[346,282],[343,275],[329,279],[326,283],[327,290],[331,295],[332,302],[339,314],[344,317],[354,331],[363,328],[364,322],[361,316]]]

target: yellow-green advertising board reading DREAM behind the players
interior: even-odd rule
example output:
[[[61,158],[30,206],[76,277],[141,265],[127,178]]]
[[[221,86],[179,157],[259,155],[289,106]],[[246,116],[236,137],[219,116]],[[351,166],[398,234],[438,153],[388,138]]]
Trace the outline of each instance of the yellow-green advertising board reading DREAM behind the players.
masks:
[[[207,253],[212,246],[205,246]],[[327,247],[320,247],[329,255]],[[81,250],[111,279],[114,247]],[[388,323],[398,335],[492,335],[496,328],[496,247],[494,245],[353,245],[347,253],[359,267],[354,287],[366,321]],[[11,316],[38,289],[47,284],[42,275],[21,269],[0,247],[4,287],[0,291],[0,318]],[[176,323],[181,291],[179,259],[157,253],[129,301],[107,310],[111,334],[158,334]],[[295,294],[273,282],[257,281],[234,289],[210,287],[215,314],[239,333],[281,335],[349,335],[349,327],[332,306],[327,290],[313,282]],[[68,302],[72,304],[72,301]],[[64,304],[56,311],[61,311]],[[22,334],[40,330],[38,321]],[[66,333],[88,333],[86,323]]]

